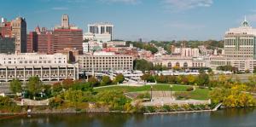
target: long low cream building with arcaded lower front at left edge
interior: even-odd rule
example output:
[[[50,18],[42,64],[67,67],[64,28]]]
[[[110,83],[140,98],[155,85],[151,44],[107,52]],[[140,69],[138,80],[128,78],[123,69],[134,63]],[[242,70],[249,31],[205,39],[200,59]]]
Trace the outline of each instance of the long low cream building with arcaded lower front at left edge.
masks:
[[[31,77],[38,77],[41,81],[76,80],[79,79],[79,65],[68,64],[67,55],[62,54],[0,54],[0,82],[14,78],[26,82]]]

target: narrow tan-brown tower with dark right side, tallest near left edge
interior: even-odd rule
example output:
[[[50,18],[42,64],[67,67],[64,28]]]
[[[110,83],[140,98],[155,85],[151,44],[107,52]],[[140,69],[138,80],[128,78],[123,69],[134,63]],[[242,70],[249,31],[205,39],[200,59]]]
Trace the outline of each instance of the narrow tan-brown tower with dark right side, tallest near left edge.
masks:
[[[15,38],[15,52],[26,53],[26,20],[18,17],[11,21],[12,37]]]

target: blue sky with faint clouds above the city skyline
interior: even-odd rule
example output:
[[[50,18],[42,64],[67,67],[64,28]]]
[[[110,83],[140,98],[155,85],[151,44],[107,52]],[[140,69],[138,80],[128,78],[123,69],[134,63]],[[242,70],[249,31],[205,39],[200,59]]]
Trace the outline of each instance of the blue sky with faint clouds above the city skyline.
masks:
[[[222,39],[244,16],[256,27],[256,0],[5,0],[0,17],[26,18],[27,29],[54,27],[61,14],[87,32],[87,24],[114,24],[114,38],[125,40]]]

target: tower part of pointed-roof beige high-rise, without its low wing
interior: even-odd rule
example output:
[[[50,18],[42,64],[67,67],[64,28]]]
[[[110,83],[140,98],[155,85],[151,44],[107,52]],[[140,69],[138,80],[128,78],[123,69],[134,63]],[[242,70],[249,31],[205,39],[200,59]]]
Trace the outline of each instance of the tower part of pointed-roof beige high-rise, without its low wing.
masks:
[[[224,56],[233,59],[256,59],[256,29],[246,18],[238,28],[231,28],[224,35]]]

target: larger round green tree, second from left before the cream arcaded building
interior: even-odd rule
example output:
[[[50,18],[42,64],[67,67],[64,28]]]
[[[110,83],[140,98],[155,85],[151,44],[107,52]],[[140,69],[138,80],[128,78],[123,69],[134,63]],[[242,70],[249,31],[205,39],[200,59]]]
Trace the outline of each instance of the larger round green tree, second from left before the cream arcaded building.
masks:
[[[43,84],[38,77],[31,77],[28,79],[28,83],[26,84],[26,87],[28,92],[32,94],[33,98],[35,99],[35,96],[39,92],[42,92]]]

